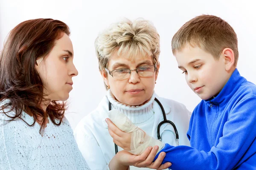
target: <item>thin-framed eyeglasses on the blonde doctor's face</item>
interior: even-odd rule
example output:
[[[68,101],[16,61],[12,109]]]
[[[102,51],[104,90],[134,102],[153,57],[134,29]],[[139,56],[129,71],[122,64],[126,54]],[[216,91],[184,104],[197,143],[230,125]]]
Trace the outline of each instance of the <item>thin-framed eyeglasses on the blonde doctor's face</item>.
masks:
[[[110,74],[114,79],[121,80],[128,78],[129,75],[131,74],[131,71],[136,71],[140,77],[150,77],[154,74],[156,69],[156,65],[145,65],[138,67],[134,70],[130,70],[129,68],[119,68],[116,70],[109,71],[107,68],[105,68],[105,71],[107,71],[108,74]]]

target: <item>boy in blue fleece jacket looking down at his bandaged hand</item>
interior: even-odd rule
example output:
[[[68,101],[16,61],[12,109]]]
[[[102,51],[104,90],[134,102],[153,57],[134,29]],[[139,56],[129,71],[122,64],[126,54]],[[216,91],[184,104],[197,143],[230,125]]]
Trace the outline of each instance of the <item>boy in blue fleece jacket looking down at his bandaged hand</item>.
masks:
[[[236,69],[237,44],[233,28],[212,15],[189,20],[174,35],[178,67],[202,101],[189,123],[191,147],[165,144],[160,150],[172,170],[256,169],[256,85]],[[129,148],[131,134],[107,123],[115,142]]]

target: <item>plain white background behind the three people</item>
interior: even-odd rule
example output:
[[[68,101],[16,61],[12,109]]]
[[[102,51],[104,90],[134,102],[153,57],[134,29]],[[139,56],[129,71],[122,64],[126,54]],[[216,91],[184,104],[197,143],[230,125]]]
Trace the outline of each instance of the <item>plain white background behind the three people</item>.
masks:
[[[131,20],[143,17],[151,20],[160,34],[161,67],[156,93],[182,102],[193,111],[200,98],[189,89],[177,68],[171,49],[173,35],[197,15],[221,17],[238,36],[240,74],[256,83],[256,5],[253,3],[253,0],[0,0],[0,50],[9,31],[24,20],[53,18],[70,26],[79,76],[73,78],[66,116],[74,129],[106,94],[94,50],[98,33],[124,17]]]

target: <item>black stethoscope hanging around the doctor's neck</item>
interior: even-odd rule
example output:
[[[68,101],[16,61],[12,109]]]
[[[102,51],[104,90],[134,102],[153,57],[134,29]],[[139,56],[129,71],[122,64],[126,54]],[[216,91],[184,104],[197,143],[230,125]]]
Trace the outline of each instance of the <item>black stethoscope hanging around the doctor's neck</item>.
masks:
[[[172,125],[172,127],[173,127],[173,129],[174,129],[174,131],[175,131],[175,134],[174,134],[174,135],[176,136],[176,144],[177,144],[177,146],[178,146],[178,145],[179,145],[179,134],[178,134],[178,131],[177,131],[177,128],[176,128],[175,124],[174,124],[172,121],[166,119],[166,113],[165,113],[164,108],[163,108],[163,105],[160,103],[160,101],[159,101],[157,98],[155,98],[154,100],[155,100],[155,101],[157,102],[157,104],[160,106],[160,108],[161,108],[161,110],[162,110],[162,113],[163,113],[163,121],[160,122],[160,123],[158,124],[158,126],[157,126],[157,138],[158,138],[160,141],[162,141],[162,135],[163,135],[164,132],[169,131],[169,132],[171,132],[171,133],[174,133],[172,130],[166,129],[166,130],[163,130],[163,132],[162,132],[161,135],[160,135],[160,127],[161,127],[161,125],[163,125],[163,124],[165,124],[165,123],[169,123],[170,125]],[[111,102],[108,102],[108,111],[111,111]],[[118,148],[117,148],[117,145],[116,145],[116,144],[115,144],[115,150],[116,150],[116,153],[118,153]]]

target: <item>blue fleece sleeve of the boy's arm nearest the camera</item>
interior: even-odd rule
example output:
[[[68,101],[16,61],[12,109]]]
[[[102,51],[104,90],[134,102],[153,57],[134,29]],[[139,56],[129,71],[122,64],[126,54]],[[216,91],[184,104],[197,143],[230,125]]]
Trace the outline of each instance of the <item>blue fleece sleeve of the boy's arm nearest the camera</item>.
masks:
[[[207,169],[231,170],[256,153],[256,97],[239,102],[224,124],[223,136],[209,152],[188,146],[166,144],[162,162],[172,162],[172,170]],[[155,159],[158,157],[156,155]],[[154,159],[154,160],[155,160]],[[256,163],[255,163],[256,164]]]

